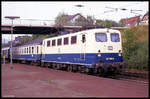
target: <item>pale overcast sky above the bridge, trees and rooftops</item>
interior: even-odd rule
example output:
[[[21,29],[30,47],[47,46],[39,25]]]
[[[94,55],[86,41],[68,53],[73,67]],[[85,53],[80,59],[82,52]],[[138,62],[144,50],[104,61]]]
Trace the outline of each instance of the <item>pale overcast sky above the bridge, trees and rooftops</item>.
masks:
[[[84,7],[75,7],[75,5],[81,4]],[[78,1],[63,1],[63,2],[29,2],[29,1],[13,1],[6,2],[2,1],[2,15],[1,19],[4,19],[5,16],[20,16],[20,19],[40,19],[40,20],[55,20],[59,13],[67,13],[73,15],[76,13],[81,13],[83,16],[92,15],[96,19],[102,20],[114,20],[119,21],[122,18],[133,17],[138,14],[131,13],[131,10],[142,10],[136,11],[136,13],[144,15],[148,10],[148,1],[111,1],[111,2],[100,2],[100,1],[88,1],[88,2],[78,2]],[[129,10],[115,11],[110,8],[126,8]],[[112,12],[104,13],[104,11]],[[5,36],[3,36],[4,38]]]

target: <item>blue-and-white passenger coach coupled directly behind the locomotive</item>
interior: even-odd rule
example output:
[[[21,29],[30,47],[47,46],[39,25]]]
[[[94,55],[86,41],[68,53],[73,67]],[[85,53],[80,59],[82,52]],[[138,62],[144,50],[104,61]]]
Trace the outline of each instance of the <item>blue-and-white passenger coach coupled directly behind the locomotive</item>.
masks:
[[[42,40],[34,40],[24,45],[13,47],[13,60],[29,63],[41,61],[41,43]]]

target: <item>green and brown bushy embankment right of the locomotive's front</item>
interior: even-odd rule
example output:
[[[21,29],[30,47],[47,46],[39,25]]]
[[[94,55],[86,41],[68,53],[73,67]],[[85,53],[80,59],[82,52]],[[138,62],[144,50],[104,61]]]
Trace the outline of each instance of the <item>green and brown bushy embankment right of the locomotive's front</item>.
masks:
[[[147,32],[143,33],[143,31]],[[148,28],[138,26],[127,29],[122,34],[123,38],[125,38],[123,42],[123,57],[124,61],[128,63],[128,68],[148,70]]]

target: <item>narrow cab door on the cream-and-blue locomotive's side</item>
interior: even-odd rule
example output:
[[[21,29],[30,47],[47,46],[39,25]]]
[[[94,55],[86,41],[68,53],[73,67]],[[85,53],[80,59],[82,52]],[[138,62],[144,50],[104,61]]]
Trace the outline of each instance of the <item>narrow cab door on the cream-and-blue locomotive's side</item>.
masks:
[[[86,34],[81,34],[81,54],[80,58],[85,60],[85,51],[86,51]]]

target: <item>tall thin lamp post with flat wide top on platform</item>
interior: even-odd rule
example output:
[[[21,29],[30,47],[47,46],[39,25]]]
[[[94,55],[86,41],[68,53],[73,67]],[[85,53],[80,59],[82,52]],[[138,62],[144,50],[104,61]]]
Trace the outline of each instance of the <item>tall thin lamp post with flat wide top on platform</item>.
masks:
[[[13,20],[20,18],[19,16],[5,16],[5,18],[11,20],[11,49],[10,49],[10,68],[13,69],[12,65],[12,37],[13,37]]]

